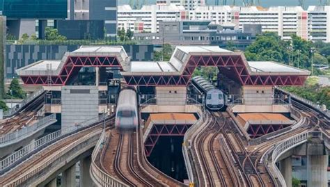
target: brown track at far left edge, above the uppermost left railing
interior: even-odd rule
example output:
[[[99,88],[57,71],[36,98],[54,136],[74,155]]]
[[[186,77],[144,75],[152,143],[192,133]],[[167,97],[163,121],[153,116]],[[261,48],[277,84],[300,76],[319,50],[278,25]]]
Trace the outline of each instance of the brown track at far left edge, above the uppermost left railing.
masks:
[[[32,124],[38,111],[44,104],[45,94],[40,95],[35,101],[31,102],[31,104],[20,111],[18,115],[3,120],[3,122],[0,124],[0,136],[11,133],[13,131],[17,131],[23,127],[29,126],[29,124]]]

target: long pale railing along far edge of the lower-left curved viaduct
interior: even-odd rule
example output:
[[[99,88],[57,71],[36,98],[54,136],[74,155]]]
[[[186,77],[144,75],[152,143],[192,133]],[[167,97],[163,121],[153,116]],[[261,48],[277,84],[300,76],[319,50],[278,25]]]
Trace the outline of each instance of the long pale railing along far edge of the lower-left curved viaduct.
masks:
[[[35,140],[33,143],[30,143],[29,145],[22,147],[21,149],[17,150],[16,152],[13,152],[13,154],[10,154],[9,156],[3,158],[3,160],[0,161],[0,174],[3,174],[10,168],[13,168],[15,167],[15,165],[21,163],[24,158],[29,157],[29,154],[33,154],[33,152],[36,152],[39,149],[42,149],[43,147],[46,147],[47,145],[56,142],[56,140],[59,140],[64,136],[68,136],[71,133],[80,131],[81,129],[86,129],[92,124],[104,120],[105,117],[107,117],[107,115],[100,115],[90,120],[81,122],[80,124],[75,125],[75,127],[68,127],[65,129],[55,131],[54,133],[49,133],[48,135],[43,136],[38,140]]]

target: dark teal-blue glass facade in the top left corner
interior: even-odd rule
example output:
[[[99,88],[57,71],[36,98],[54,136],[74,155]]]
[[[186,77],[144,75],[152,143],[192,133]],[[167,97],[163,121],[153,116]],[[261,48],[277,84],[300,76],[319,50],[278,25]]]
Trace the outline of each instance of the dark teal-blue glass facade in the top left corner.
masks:
[[[64,19],[67,0],[0,0],[0,11],[8,18]]]

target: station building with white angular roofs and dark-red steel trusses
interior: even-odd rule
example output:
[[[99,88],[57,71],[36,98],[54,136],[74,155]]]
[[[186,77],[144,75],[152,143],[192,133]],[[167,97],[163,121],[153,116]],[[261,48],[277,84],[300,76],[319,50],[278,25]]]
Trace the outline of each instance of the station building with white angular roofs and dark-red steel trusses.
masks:
[[[123,47],[83,46],[62,60],[40,60],[17,74],[26,85],[49,90],[45,112],[62,113],[65,126],[113,111],[120,83],[138,90],[142,113],[194,113],[197,106],[189,102],[187,87],[201,66],[218,67],[218,85],[239,100],[231,107],[234,113],[288,113],[287,106],[276,102],[274,86],[302,86],[309,74],[207,46],[176,47],[168,62],[132,61]],[[123,79],[113,77],[116,70]]]

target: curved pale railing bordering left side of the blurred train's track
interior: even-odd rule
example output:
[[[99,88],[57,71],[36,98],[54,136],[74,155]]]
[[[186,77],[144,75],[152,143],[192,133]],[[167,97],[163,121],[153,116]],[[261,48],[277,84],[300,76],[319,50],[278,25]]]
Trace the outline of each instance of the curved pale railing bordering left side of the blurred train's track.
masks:
[[[97,154],[100,154],[101,152],[101,145],[104,142],[106,136],[105,136],[105,132],[102,133],[100,139],[98,140],[97,144],[95,145],[95,149],[93,150],[92,153],[92,163],[91,163],[91,168],[89,170],[90,174],[91,174],[91,178],[93,179],[94,183],[97,186],[100,187],[122,187],[122,186],[127,186],[126,184],[124,184],[123,182],[119,181],[118,179],[111,177],[109,174],[107,174],[106,172],[104,172],[103,170],[101,170],[99,168],[99,166],[95,163],[96,159],[97,159]]]

